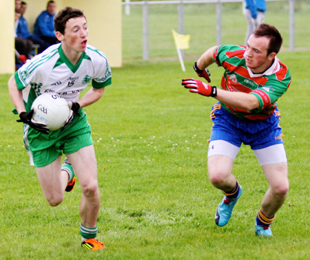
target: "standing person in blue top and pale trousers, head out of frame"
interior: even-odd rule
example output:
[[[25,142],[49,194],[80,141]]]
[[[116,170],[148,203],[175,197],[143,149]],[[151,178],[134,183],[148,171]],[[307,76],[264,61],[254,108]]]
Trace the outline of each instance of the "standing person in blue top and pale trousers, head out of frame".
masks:
[[[258,25],[264,23],[266,9],[265,0],[245,0],[245,18],[247,19],[245,45],[247,45],[249,36],[253,34]]]

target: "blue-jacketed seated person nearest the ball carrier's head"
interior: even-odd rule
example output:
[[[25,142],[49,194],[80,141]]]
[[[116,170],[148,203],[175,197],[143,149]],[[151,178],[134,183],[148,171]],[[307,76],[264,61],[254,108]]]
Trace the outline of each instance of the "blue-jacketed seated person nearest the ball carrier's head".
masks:
[[[34,36],[47,41],[50,45],[59,43],[54,30],[55,10],[55,1],[48,1],[46,10],[41,12],[34,23]]]

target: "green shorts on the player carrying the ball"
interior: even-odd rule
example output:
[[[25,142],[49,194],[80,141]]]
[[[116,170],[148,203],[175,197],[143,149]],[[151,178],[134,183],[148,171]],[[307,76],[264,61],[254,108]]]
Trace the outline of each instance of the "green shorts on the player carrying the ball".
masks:
[[[79,113],[81,116],[74,116],[72,122],[63,131],[61,129],[50,131],[46,135],[31,127],[24,128],[24,143],[28,144],[25,147],[31,152],[34,166],[46,166],[63,153],[75,153],[79,149],[93,144],[86,113],[83,109],[80,109]]]

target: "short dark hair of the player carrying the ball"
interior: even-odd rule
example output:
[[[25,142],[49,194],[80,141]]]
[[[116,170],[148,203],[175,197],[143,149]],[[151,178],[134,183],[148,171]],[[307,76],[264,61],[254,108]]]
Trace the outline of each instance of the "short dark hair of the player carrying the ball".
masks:
[[[77,17],[84,17],[86,19],[83,11],[79,9],[72,8],[70,6],[61,9],[54,17],[54,27],[56,32],[65,34],[65,23],[67,23],[69,19]]]

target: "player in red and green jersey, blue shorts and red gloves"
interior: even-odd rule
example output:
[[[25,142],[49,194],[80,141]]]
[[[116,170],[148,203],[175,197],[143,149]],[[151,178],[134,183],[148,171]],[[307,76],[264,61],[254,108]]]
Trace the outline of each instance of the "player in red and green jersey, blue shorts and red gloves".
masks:
[[[240,145],[249,144],[269,182],[256,216],[255,232],[260,237],[272,236],[270,224],[289,190],[277,100],[287,91],[291,76],[276,57],[281,45],[278,30],[263,23],[249,37],[247,47],[211,47],[194,63],[198,76],[208,82],[211,80],[205,69],[209,65],[224,67],[220,89],[194,78],[182,81],[189,91],[219,101],[211,110],[214,126],[207,162],[211,184],[224,193],[216,210],[216,224],[227,224],[242,194],[242,187],[231,171]]]

